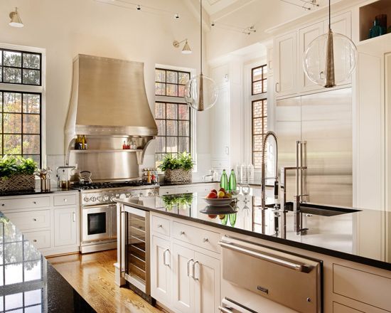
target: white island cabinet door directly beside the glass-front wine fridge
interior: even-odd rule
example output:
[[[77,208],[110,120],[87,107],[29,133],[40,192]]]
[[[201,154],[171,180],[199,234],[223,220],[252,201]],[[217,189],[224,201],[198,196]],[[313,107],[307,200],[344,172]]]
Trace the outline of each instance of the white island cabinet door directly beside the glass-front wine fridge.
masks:
[[[169,307],[171,297],[170,242],[152,236],[151,296]]]

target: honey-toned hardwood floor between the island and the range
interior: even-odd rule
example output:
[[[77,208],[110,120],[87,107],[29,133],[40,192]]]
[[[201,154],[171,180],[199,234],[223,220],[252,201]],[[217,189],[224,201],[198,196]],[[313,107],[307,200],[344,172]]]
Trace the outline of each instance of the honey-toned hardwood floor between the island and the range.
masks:
[[[117,250],[48,258],[53,267],[97,312],[161,313],[132,290],[114,283]]]

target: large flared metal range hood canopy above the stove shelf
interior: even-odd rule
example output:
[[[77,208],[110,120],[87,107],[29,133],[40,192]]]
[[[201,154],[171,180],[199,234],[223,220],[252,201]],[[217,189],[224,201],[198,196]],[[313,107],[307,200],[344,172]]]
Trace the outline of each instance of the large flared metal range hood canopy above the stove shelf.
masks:
[[[77,134],[156,136],[144,85],[144,63],[92,55],[73,61],[65,143]]]

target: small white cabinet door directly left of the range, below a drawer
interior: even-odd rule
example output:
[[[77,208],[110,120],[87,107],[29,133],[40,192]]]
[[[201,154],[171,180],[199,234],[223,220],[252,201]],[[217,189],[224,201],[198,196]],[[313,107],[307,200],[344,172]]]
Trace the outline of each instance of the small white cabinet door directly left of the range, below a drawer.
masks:
[[[76,208],[54,209],[54,244],[75,245],[77,240]]]

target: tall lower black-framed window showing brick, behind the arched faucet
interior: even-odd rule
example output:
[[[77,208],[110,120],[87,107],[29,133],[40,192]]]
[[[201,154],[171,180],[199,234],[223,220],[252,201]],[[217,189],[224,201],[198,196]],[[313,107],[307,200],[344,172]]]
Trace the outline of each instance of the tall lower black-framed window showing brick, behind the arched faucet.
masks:
[[[252,164],[262,165],[262,144],[267,132],[267,99],[252,101]]]

